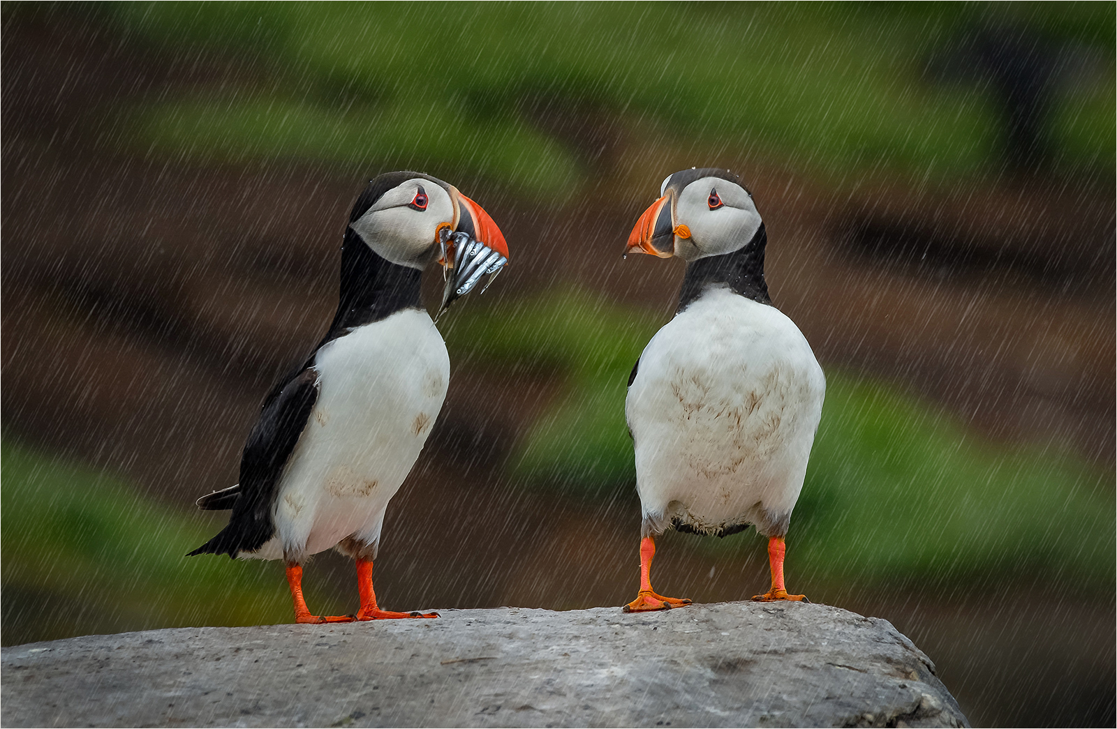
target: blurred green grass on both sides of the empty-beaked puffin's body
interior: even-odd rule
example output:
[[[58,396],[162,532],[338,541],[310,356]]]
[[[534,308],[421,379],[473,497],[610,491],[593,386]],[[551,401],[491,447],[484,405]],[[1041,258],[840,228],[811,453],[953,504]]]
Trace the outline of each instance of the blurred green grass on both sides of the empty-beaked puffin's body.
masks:
[[[486,370],[550,370],[563,394],[508,461],[514,478],[567,496],[634,488],[628,375],[665,322],[579,289],[447,333],[451,357]],[[484,337],[481,337],[484,333]],[[484,349],[466,355],[469,343]],[[1114,473],[1069,453],[995,445],[887,383],[827,372],[822,422],[792,518],[796,560],[827,579],[1042,582],[1107,592],[1115,575]],[[751,533],[750,533],[751,534]],[[725,540],[703,548],[733,551]]]

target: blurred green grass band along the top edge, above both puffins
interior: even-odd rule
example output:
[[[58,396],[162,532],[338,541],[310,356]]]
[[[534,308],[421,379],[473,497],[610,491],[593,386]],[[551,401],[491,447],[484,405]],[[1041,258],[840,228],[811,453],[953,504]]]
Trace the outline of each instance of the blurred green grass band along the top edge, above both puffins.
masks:
[[[1099,51],[1102,68],[1053,97],[1053,164],[1111,172],[1117,151],[1113,3],[132,2],[107,12],[130,37],[247,56],[270,75],[134,111],[140,145],[192,157],[426,166],[554,196],[594,152],[546,128],[590,113],[650,124],[682,148],[761,148],[823,175],[989,174],[1002,126],[993,85],[926,74],[934,54],[987,22]]]

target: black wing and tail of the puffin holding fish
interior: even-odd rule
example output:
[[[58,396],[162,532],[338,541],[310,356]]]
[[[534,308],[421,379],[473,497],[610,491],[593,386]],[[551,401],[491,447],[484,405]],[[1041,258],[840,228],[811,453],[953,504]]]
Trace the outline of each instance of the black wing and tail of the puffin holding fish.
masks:
[[[260,419],[245,443],[240,483],[199,499],[202,508],[229,508],[217,505],[230,503],[229,525],[188,556],[236,557],[238,551],[259,549],[275,534],[271,508],[278,498],[279,477],[318,400],[317,380],[318,373],[307,367],[264,402]]]

